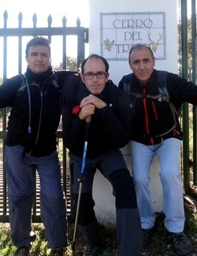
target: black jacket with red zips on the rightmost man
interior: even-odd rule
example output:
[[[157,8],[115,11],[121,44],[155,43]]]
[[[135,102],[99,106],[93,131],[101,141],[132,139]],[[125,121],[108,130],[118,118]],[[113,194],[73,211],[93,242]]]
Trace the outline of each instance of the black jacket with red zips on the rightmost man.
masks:
[[[154,70],[151,81],[146,85],[140,85],[135,75],[128,74],[122,77],[118,87],[123,88],[125,81],[131,83],[131,92],[151,95],[158,95],[157,85],[158,71]],[[177,111],[181,104],[188,102],[197,104],[197,86],[186,81],[177,74],[168,73],[166,77],[166,88],[169,93],[169,100],[176,107]],[[176,130],[171,130],[174,125],[173,114],[169,104],[161,99],[151,99],[146,97],[132,96],[133,121],[132,121],[132,140],[145,145],[158,144],[162,139],[177,137],[182,139],[180,124],[177,116]],[[159,136],[165,134],[164,136]]]

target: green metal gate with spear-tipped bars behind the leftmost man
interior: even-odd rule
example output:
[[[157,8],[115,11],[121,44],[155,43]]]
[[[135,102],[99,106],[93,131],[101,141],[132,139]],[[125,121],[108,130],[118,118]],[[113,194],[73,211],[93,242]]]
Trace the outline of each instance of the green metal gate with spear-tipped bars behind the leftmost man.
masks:
[[[22,62],[23,60],[23,51],[26,47],[24,45],[24,39],[28,37],[35,36],[46,36],[51,41],[51,45],[55,40],[55,36],[58,38],[61,36],[62,48],[58,51],[61,51],[62,56],[62,68],[66,69],[66,56],[67,56],[67,36],[76,36],[76,52],[77,52],[77,68],[80,67],[80,63],[84,60],[85,55],[85,43],[88,43],[88,28],[80,27],[80,19],[76,20],[76,27],[67,27],[66,18],[62,18],[62,27],[51,27],[52,17],[49,15],[47,19],[48,27],[46,28],[37,28],[37,16],[36,14],[32,17],[32,28],[22,28],[22,13],[18,15],[18,28],[7,28],[8,13],[4,12],[4,24],[3,28],[0,28],[0,40],[2,40],[2,66],[3,66],[3,77],[2,81],[6,80],[7,77],[7,59],[9,53],[8,40],[17,38],[17,49],[13,45],[11,51],[18,52],[18,73],[22,72]],[[30,40],[30,39],[29,39]],[[17,74],[17,73],[16,73]],[[2,84],[0,80],[0,85]],[[5,139],[6,139],[6,123],[7,123],[7,114],[9,109],[0,109],[0,222],[9,222],[9,209],[7,203],[7,190],[6,190],[6,175],[4,168],[4,148],[5,148]],[[69,171],[66,167],[66,149],[62,143],[61,129],[58,130],[58,150],[61,161],[61,181],[62,186],[65,191],[65,195],[68,201],[68,209],[70,203],[70,191],[69,191]],[[32,209],[32,221],[41,222],[40,218],[40,208],[39,208],[39,177],[36,175],[36,187],[35,187],[35,204]]]

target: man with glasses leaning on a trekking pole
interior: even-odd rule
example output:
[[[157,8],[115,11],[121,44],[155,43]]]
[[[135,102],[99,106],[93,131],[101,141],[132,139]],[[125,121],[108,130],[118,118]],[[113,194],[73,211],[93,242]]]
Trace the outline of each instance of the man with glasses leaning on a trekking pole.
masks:
[[[105,58],[90,55],[82,62],[80,75],[73,75],[66,82],[62,96],[63,139],[69,149],[76,203],[86,119],[91,116],[78,219],[78,229],[87,243],[84,255],[98,255],[101,246],[92,198],[94,175],[99,169],[113,186],[116,198],[118,255],[138,256],[142,230],[136,192],[120,151],[131,137],[132,105],[130,97],[109,80],[108,71]]]

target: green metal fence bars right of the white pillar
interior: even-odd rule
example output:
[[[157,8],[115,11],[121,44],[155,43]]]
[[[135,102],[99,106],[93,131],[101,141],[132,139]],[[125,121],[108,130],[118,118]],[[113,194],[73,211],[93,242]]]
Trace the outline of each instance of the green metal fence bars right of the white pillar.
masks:
[[[190,8],[190,9],[189,9]],[[196,0],[179,0],[180,75],[197,85],[196,80]],[[189,14],[190,13],[190,14]],[[197,185],[197,107],[183,106],[183,177],[186,193]]]

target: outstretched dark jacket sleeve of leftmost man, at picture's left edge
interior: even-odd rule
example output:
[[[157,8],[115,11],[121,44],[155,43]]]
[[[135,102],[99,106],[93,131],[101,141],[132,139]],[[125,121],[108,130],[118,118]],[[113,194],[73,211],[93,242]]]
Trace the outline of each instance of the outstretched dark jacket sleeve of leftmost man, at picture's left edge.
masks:
[[[22,82],[22,77],[18,75],[7,79],[0,85],[0,108],[13,106],[13,102]]]

